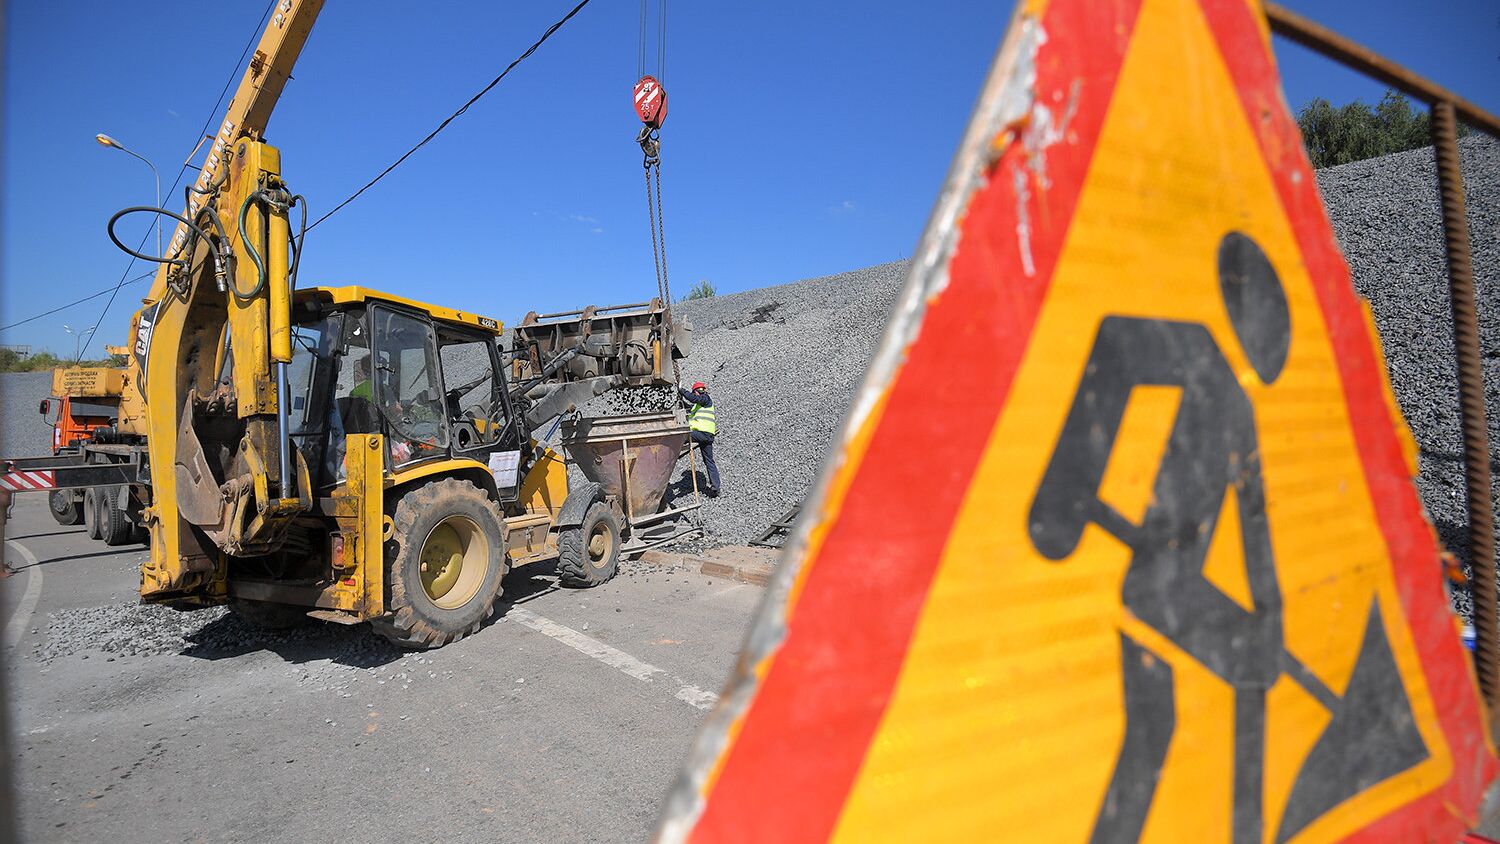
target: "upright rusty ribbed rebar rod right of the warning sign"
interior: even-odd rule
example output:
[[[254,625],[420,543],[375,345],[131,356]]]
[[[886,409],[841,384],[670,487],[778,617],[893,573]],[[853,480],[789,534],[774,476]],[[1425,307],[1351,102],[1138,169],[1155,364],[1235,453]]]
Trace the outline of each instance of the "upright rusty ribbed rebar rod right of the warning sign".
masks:
[[[1458,159],[1458,117],[1452,102],[1432,105],[1432,150],[1443,204],[1448,289],[1454,309],[1458,403],[1464,429],[1464,486],[1468,492],[1468,550],[1473,561],[1474,670],[1479,690],[1494,708],[1500,696],[1500,624],[1494,556],[1494,508],[1490,487],[1490,435],[1485,427],[1485,379],[1479,360],[1474,274],[1464,214],[1464,174]]]

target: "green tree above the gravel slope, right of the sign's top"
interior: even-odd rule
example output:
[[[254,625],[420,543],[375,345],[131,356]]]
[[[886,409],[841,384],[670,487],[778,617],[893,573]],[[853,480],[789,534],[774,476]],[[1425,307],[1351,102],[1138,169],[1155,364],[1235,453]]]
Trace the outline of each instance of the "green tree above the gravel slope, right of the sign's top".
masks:
[[[1432,142],[1426,111],[1412,108],[1412,100],[1394,90],[1386,90],[1386,96],[1374,108],[1358,99],[1335,108],[1326,99],[1316,97],[1298,112],[1298,129],[1302,130],[1302,145],[1314,168],[1414,150]],[[1467,133],[1466,127],[1458,127],[1460,138]]]

